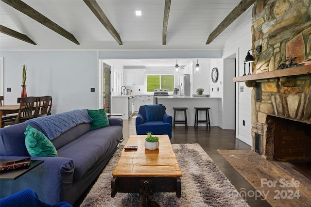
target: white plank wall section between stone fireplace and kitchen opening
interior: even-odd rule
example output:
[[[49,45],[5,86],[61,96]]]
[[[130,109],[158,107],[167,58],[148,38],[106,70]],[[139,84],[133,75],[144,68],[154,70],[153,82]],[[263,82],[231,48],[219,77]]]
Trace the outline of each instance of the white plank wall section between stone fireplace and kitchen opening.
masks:
[[[244,16],[236,28],[235,32],[232,34],[230,39],[225,45],[223,50],[223,58],[232,56],[236,54],[237,58],[237,71],[236,76],[242,76],[244,73],[243,60],[247,54],[247,50],[252,47],[252,9],[250,7],[244,12]],[[246,74],[248,73],[248,65],[246,65]],[[236,137],[243,142],[251,145],[251,90],[252,88],[247,88],[245,82],[237,82],[236,87]],[[240,91],[240,87],[243,87],[243,91]],[[245,126],[242,125],[243,120],[245,121]]]

